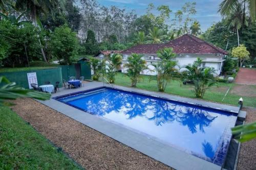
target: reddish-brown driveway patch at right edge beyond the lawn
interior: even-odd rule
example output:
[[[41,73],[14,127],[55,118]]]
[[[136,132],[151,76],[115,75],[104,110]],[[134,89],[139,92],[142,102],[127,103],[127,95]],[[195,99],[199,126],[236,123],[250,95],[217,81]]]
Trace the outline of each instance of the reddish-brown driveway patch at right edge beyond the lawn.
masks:
[[[256,85],[256,69],[240,68],[235,83]]]

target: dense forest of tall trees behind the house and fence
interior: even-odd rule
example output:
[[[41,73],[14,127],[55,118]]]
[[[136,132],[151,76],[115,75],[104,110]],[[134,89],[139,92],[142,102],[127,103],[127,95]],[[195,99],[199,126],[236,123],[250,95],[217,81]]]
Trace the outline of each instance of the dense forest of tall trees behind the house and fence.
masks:
[[[95,0],[1,0],[0,11],[2,66],[38,65],[38,61],[47,64],[54,60],[72,64],[100,50],[164,43],[185,33],[230,52],[244,44],[250,53],[245,64],[255,64],[255,1],[224,0],[219,10],[223,19],[205,32],[194,17],[196,3],[184,3],[177,11],[166,5],[148,4],[147,12],[137,16],[135,11],[105,7]]]

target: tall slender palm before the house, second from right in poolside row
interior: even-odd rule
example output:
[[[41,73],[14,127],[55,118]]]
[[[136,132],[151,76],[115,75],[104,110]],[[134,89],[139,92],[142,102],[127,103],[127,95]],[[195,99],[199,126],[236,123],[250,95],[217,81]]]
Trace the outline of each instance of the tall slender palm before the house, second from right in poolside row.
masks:
[[[173,52],[173,48],[163,48],[157,52],[157,56],[161,59],[157,64],[152,64],[156,68],[156,76],[152,76],[151,80],[157,80],[157,86],[159,91],[164,91],[167,82],[172,78],[173,74],[177,71],[175,66],[176,62],[171,61],[175,58],[176,54]]]

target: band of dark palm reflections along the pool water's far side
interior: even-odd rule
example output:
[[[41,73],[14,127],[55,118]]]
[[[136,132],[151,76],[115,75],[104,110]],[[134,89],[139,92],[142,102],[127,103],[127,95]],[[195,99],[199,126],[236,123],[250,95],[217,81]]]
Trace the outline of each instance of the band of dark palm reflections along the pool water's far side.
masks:
[[[197,132],[198,125],[199,130],[204,132],[204,127],[208,127],[216,118],[205,110],[172,104],[164,100],[149,99],[140,95],[112,93],[109,90],[100,95],[92,95],[86,104],[88,111],[101,116],[112,111],[118,113],[123,111],[124,114],[129,115],[128,119],[144,116],[148,120],[154,120],[156,126],[176,120],[183,126],[187,126],[191,133]]]

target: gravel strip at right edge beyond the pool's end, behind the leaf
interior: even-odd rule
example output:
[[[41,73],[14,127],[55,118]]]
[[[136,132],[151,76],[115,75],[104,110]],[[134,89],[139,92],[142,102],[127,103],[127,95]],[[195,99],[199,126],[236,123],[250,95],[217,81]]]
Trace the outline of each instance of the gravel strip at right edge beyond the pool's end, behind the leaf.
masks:
[[[247,112],[245,122],[256,121],[256,109],[245,109]],[[256,139],[241,143],[238,159],[238,170],[256,169]]]

